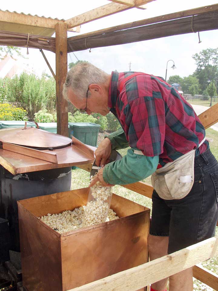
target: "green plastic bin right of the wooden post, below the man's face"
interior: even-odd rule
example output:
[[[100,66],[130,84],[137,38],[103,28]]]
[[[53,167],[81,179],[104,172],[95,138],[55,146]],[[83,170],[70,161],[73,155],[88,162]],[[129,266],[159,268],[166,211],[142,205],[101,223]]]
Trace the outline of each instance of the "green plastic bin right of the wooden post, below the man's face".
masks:
[[[69,122],[70,134],[81,142],[89,146],[97,146],[97,137],[99,132],[99,124],[91,122]]]

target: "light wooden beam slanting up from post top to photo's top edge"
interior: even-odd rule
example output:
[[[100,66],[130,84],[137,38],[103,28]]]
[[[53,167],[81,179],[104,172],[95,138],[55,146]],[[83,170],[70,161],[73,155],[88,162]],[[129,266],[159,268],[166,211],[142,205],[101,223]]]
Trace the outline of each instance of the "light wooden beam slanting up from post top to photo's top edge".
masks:
[[[152,1],[154,0],[147,0],[147,1],[137,0],[137,3],[134,4],[134,6],[129,6],[130,4],[129,5],[120,4],[120,2],[122,1],[119,1],[119,3],[109,3],[104,6],[97,7],[93,10],[85,12],[83,14],[80,14],[78,16],[72,17],[66,20],[66,23],[68,25],[68,29],[70,29],[71,27],[88,23],[90,21],[93,21],[93,20],[108,16],[108,15],[112,15],[117,12],[125,11],[127,9],[134,8],[134,7],[137,7],[148,2],[152,2]]]

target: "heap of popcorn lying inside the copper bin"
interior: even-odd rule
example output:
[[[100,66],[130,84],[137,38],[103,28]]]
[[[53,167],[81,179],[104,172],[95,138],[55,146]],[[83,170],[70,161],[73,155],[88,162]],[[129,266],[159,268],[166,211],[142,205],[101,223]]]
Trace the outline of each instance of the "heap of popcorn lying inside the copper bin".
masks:
[[[104,202],[104,203],[106,203],[106,202]],[[92,206],[95,207],[95,204],[93,204]],[[80,228],[84,227],[82,225],[82,223],[83,223],[85,207],[86,206],[81,206],[79,208],[75,208],[73,211],[66,210],[66,211],[59,213],[59,214],[48,213],[45,216],[38,217],[38,219],[45,222],[48,226],[50,226],[51,228],[53,228],[54,230],[56,230],[59,233],[64,233],[64,232],[68,232],[71,230],[80,229]],[[106,207],[106,206],[103,206],[101,204],[101,207],[102,207],[102,209],[104,209],[104,207]],[[107,205],[107,207],[108,207],[108,205]],[[95,208],[95,212],[94,212],[93,216],[89,212],[89,221],[86,222],[87,223],[86,226],[101,223],[97,219],[97,211],[98,210]],[[99,213],[100,218],[102,217],[102,215],[103,215],[102,213]],[[114,219],[118,219],[118,218],[119,217],[116,216],[116,213],[112,209],[110,209],[106,221],[110,221],[110,220],[114,220]]]

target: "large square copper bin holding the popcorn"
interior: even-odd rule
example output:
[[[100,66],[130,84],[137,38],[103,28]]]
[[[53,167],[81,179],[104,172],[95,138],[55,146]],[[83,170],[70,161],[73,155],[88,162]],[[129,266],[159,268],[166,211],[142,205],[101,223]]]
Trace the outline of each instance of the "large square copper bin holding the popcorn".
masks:
[[[120,218],[110,222],[59,234],[38,219],[85,205],[88,192],[18,201],[26,290],[66,291],[147,262],[150,209],[121,196],[112,196],[111,208]]]

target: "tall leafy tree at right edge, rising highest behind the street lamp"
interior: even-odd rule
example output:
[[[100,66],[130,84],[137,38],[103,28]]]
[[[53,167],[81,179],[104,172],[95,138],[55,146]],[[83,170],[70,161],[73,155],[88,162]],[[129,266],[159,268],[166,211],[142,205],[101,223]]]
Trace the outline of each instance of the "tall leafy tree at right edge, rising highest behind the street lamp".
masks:
[[[199,54],[192,56],[197,65],[193,76],[199,79],[200,91],[202,92],[208,85],[208,80],[215,84],[218,77],[218,48],[204,49]]]

